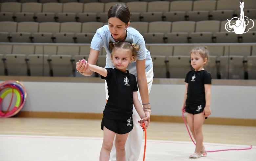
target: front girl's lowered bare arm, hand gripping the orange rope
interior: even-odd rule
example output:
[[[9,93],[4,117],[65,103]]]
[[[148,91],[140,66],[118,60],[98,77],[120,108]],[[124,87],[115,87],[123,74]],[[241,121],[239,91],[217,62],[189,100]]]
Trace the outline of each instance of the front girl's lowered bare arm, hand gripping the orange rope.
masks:
[[[148,127],[148,121],[145,119],[145,117],[146,117],[146,112],[147,111],[143,111],[143,108],[142,108],[142,106],[141,106],[141,103],[140,103],[140,101],[139,101],[139,99],[138,99],[138,92],[137,91],[135,91],[135,92],[133,92],[133,105],[134,105],[134,107],[135,107],[135,109],[136,109],[136,111],[138,112],[138,114],[139,114],[139,117],[141,118],[141,119],[143,119],[143,120],[140,120],[139,121],[139,123],[142,125],[142,123],[145,123],[145,128],[147,128]],[[149,112],[148,112],[149,113]],[[150,115],[150,114],[149,114]],[[143,129],[143,128],[142,128]]]

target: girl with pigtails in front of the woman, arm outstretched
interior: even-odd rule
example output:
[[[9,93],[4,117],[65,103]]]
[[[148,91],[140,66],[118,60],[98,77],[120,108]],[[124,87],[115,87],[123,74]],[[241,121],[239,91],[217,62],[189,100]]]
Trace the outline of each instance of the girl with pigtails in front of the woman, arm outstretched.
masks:
[[[138,99],[136,77],[126,70],[129,63],[136,60],[137,54],[135,50],[139,50],[139,45],[127,42],[118,42],[115,45],[109,44],[110,49],[113,46],[111,60],[115,66],[114,69],[92,65],[85,60],[79,61],[82,66],[87,64],[89,70],[99,73],[108,85],[109,98],[103,111],[101,122],[101,129],[104,132],[100,161],[109,161],[115,136],[117,161],[126,160],[125,143],[129,132],[132,131],[134,126],[133,105],[141,118],[138,121],[140,126],[145,123],[145,128],[147,128],[148,121],[145,120],[145,113],[151,113],[150,108],[142,108]]]

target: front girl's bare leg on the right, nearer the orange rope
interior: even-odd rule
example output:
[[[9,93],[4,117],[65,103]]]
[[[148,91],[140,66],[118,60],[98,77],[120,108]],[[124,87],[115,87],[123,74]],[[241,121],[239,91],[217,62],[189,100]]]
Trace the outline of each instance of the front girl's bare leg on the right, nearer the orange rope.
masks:
[[[116,146],[116,158],[117,161],[125,161],[125,143],[128,134],[116,134],[115,146]]]

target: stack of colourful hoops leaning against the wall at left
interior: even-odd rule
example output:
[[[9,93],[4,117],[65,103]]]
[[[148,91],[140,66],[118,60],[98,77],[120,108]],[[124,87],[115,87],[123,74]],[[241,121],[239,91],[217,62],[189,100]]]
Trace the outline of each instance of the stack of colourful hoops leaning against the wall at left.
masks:
[[[22,107],[25,104],[26,97],[27,97],[26,89],[24,85],[19,81],[9,80],[0,84],[0,92],[2,92],[3,90],[4,92],[0,96],[0,117],[14,116],[22,109]],[[10,111],[3,113],[1,111],[1,102],[10,93],[15,94],[17,97],[15,106]],[[11,99],[10,105],[11,103],[12,103],[12,99]]]

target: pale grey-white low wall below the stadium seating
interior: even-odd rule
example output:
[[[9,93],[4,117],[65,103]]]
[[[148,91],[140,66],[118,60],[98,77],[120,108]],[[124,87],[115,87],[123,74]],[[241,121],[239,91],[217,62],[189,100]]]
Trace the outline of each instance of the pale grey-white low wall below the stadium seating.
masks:
[[[102,113],[106,103],[104,83],[21,83],[27,90],[22,111]],[[152,115],[181,116],[184,90],[182,83],[153,84],[150,93]],[[256,119],[256,86],[212,85],[211,96],[212,117]],[[11,94],[3,100],[2,110],[7,109],[10,99]],[[13,104],[15,102],[14,97]]]

